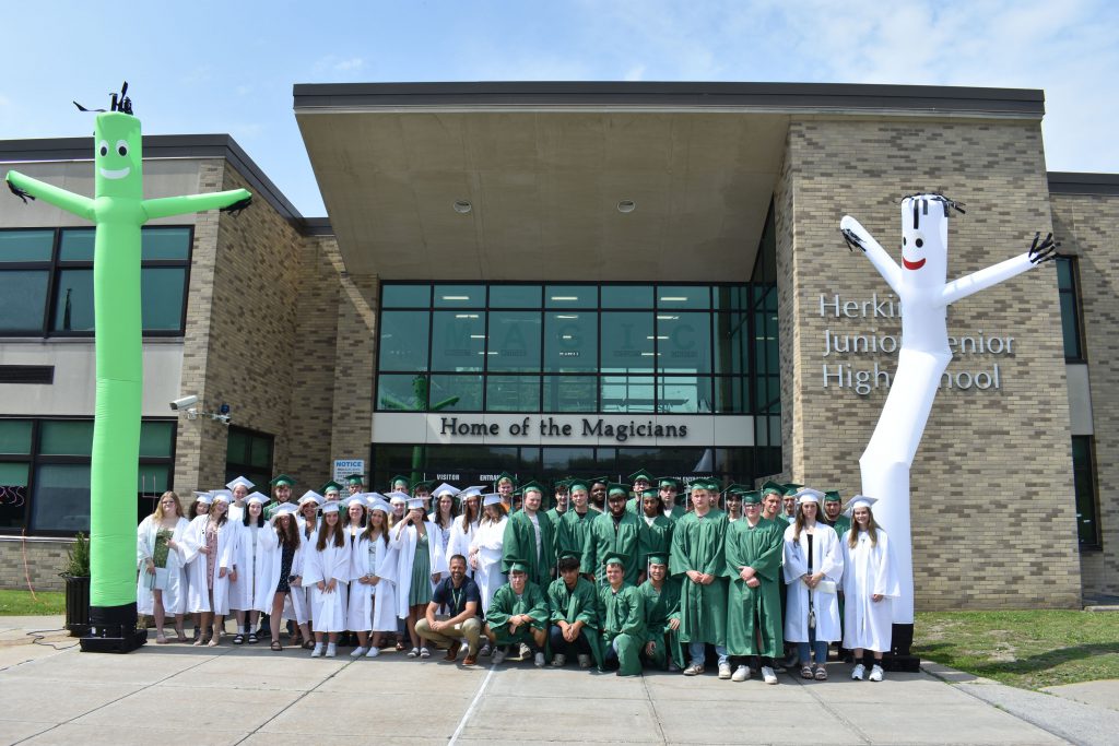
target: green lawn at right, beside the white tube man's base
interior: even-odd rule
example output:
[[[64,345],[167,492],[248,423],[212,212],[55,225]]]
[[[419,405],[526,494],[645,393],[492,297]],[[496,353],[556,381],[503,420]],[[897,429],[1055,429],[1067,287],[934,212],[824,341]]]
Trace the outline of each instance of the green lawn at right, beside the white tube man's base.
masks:
[[[1024,689],[1119,679],[1119,613],[928,612],[913,653]]]

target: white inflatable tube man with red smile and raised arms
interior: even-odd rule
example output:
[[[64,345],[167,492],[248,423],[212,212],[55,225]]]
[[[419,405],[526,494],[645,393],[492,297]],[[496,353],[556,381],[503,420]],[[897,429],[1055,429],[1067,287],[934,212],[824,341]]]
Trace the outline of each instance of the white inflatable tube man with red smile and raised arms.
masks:
[[[949,209],[963,211],[942,195],[914,195],[902,200],[902,266],[858,220],[848,215],[839,223],[848,246],[866,254],[902,305],[897,372],[871,443],[858,461],[863,494],[878,499],[874,518],[890,535],[897,561],[902,595],[893,603],[895,624],[913,623],[910,468],[941,376],[952,359],[948,305],[1055,258],[1053,234],[1044,240],[1037,234],[1028,252],[947,282]]]

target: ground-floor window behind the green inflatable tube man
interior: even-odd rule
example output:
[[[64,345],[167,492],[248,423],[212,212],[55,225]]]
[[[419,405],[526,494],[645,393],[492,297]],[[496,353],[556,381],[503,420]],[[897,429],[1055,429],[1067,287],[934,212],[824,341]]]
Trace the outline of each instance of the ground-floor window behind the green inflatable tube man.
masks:
[[[140,426],[137,520],[171,489],[173,419]],[[0,532],[90,530],[93,419],[0,419]]]

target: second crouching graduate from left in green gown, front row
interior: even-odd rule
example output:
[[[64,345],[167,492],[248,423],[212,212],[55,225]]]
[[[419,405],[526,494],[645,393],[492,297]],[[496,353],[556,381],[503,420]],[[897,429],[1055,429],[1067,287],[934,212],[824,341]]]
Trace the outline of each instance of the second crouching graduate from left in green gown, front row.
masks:
[[[580,668],[591,668],[591,659],[602,668],[602,630],[599,596],[594,584],[579,575],[579,557],[560,558],[560,577],[548,586],[552,626],[548,630],[552,665],[561,668],[575,655]]]

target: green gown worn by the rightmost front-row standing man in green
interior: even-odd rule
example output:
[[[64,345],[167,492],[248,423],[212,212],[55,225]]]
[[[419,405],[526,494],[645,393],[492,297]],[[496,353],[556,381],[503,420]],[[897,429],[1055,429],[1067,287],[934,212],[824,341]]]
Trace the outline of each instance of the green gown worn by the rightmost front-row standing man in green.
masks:
[[[726,529],[726,652],[731,655],[779,658],[784,645],[781,621],[781,556],[784,530],[759,520],[750,528],[746,519]],[[761,585],[746,586],[739,568],[753,567]],[[761,646],[758,638],[761,636]]]

